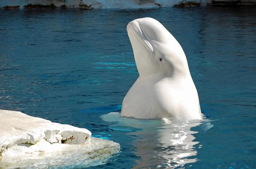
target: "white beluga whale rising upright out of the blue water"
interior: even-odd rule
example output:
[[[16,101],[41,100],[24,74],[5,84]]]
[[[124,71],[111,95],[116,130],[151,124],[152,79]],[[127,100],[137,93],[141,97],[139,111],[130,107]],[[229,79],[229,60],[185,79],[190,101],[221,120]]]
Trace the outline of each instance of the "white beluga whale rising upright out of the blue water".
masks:
[[[139,77],[122,102],[121,116],[201,119],[197,89],[178,41],[153,18],[127,25]]]

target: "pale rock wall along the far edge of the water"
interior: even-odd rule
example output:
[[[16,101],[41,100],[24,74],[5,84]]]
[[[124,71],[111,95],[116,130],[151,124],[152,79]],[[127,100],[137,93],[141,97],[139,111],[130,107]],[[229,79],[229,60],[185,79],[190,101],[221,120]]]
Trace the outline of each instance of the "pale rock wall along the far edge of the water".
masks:
[[[0,0],[0,8],[157,8],[209,4],[256,4],[256,0]]]

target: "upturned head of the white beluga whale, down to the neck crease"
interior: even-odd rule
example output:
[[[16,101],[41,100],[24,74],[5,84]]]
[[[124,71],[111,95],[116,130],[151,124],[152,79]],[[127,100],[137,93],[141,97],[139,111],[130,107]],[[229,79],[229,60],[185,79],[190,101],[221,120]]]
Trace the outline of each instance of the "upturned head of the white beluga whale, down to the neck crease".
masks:
[[[140,77],[190,75],[185,53],[169,31],[153,18],[139,18],[127,25]]]

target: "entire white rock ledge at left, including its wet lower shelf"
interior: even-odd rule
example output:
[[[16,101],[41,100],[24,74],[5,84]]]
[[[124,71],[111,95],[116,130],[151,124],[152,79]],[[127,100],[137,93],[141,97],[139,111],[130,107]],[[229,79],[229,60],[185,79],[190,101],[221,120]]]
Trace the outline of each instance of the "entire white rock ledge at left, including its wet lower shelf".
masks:
[[[91,132],[87,129],[53,123],[18,111],[0,110],[0,127],[0,166],[1,163],[13,166],[10,161],[15,161],[18,166],[24,164],[27,168],[28,163],[30,166],[45,164],[45,160],[56,165],[56,161],[78,157],[83,161],[89,159],[84,163],[87,164],[97,159],[98,155],[107,159],[120,150],[118,143],[91,138]],[[15,157],[16,160],[12,159]]]

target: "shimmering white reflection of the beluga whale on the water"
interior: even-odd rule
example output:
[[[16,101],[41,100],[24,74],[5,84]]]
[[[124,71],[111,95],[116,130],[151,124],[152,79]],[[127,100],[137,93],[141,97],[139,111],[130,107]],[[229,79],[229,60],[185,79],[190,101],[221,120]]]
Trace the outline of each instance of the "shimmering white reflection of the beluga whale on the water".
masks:
[[[120,113],[113,112],[101,116],[102,120],[117,122],[115,129],[134,128],[128,135],[135,135],[131,143],[136,147],[135,154],[140,157],[133,168],[163,167],[172,168],[184,166],[197,161],[193,158],[197,154],[193,141],[197,133],[191,131],[192,127],[201,124],[202,120],[189,120],[182,118],[138,120],[120,117]],[[189,157],[189,158],[188,158]]]

